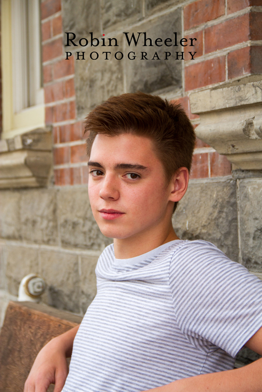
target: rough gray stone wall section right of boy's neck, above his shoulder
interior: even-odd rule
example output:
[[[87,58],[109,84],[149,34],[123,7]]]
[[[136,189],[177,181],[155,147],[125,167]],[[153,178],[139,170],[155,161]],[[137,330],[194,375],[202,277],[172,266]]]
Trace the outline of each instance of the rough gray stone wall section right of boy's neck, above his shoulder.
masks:
[[[173,226],[183,239],[204,239],[253,272],[262,272],[262,173],[189,181]]]

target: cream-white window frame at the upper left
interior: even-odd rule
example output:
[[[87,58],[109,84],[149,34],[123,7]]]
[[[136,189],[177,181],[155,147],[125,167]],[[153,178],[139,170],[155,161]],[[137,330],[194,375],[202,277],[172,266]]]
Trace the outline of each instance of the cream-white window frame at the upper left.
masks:
[[[37,1],[28,0],[26,37],[25,0],[1,0],[2,139],[45,126]],[[26,39],[31,52],[25,56]]]

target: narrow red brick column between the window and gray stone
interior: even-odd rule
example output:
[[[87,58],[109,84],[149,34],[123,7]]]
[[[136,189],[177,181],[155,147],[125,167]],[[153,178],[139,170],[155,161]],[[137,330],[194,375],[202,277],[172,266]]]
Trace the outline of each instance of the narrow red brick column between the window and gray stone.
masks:
[[[85,184],[85,141],[82,123],[76,121],[74,59],[64,59],[61,1],[42,1],[41,16],[46,123],[53,125],[55,184]]]

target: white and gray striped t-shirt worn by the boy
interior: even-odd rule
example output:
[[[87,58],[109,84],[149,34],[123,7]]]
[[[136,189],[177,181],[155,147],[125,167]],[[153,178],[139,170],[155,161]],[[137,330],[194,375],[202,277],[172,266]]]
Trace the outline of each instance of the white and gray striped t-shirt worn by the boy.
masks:
[[[140,392],[233,368],[262,326],[262,282],[206,241],[172,241],[116,260],[75,338],[63,392]]]

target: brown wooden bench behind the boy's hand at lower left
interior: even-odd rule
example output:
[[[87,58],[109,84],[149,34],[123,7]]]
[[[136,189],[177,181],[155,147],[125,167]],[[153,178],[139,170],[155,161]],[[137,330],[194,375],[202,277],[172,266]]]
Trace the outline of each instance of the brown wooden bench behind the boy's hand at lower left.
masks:
[[[23,392],[41,348],[81,320],[44,304],[10,301],[0,333],[0,392]]]

